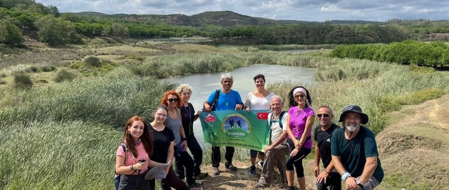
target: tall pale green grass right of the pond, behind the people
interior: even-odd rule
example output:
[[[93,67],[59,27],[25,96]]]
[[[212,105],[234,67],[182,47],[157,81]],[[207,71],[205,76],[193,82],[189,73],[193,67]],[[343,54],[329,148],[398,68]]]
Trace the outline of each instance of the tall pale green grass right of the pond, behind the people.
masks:
[[[366,126],[377,134],[386,126],[387,111],[397,109],[401,105],[419,104],[439,98],[449,91],[446,82],[449,80],[449,75],[441,72],[416,73],[409,66],[369,63],[360,60],[340,61],[342,63],[336,66],[346,67],[347,69],[343,69],[344,72],[348,75],[352,74],[353,77],[331,78],[332,80],[318,81],[314,85],[305,85],[311,93],[314,108],[327,105],[334,109],[334,123],[338,123],[340,113],[345,106],[356,104],[369,116]],[[350,68],[351,65],[345,63],[346,61],[353,62],[353,68]],[[364,69],[356,69],[357,65],[366,64],[368,64],[367,67],[376,69],[373,69],[372,73]],[[322,72],[335,76],[342,70],[318,70],[316,76],[321,76]],[[363,77],[361,78],[363,80],[360,80],[360,74],[372,77]],[[322,79],[322,77],[316,78]],[[296,85],[298,84],[284,82],[271,84],[267,88],[287,100],[288,91]]]

